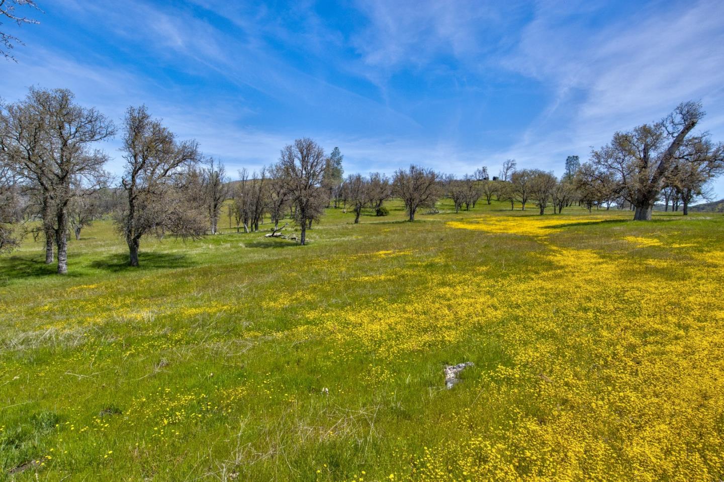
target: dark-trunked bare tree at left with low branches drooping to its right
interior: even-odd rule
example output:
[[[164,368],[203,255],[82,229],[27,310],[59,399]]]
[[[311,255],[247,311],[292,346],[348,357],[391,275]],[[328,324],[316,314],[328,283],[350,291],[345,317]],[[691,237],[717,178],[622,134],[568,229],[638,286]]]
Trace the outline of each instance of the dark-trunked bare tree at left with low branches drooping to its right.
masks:
[[[189,173],[198,164],[198,145],[176,136],[146,106],[129,107],[123,121],[125,173],[121,187],[127,206],[117,219],[129,250],[130,266],[138,266],[141,237],[156,229],[182,237],[206,232],[201,202],[194,206],[188,195]]]

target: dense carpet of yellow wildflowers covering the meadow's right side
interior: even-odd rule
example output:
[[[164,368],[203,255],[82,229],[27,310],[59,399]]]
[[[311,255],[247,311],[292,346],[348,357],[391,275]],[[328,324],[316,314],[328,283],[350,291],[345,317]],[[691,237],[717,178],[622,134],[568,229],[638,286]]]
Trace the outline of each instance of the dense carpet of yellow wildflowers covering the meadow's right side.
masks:
[[[545,250],[527,254],[539,257],[529,272],[502,279],[474,270],[432,275],[428,289],[407,299],[311,309],[308,324],[292,334],[351,340],[363,352],[395,360],[460,342],[497,323],[510,363],[477,371],[447,395],[466,389],[478,394],[465,410],[429,421],[444,427],[449,439],[424,452],[401,454],[411,462],[400,477],[682,482],[723,477],[721,251],[622,263],[614,252],[552,244],[547,234],[559,229],[557,219],[463,224],[447,223],[531,235]],[[652,238],[624,239],[629,249],[664,246]],[[552,269],[536,270],[540,263]]]

